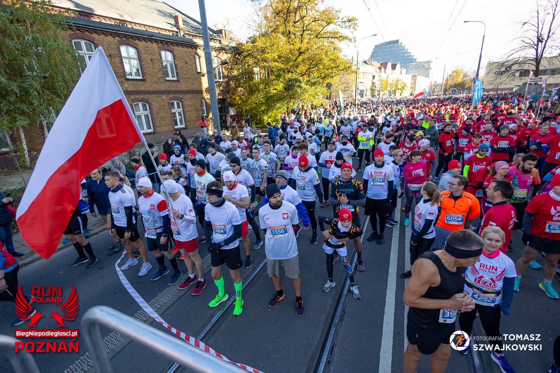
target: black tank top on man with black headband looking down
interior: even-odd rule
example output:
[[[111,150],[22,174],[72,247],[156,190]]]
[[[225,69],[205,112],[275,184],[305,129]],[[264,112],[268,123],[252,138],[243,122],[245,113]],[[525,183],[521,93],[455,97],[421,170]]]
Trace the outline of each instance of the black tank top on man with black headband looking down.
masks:
[[[440,284],[430,286],[423,295],[428,299],[450,299],[453,295],[463,292],[465,285],[465,268],[458,267],[457,272],[451,272],[444,263],[441,262],[433,251],[423,253],[418,258],[430,259],[440,272]],[[434,328],[440,325],[452,324],[455,322],[456,310],[452,309],[422,309],[410,307],[408,309],[408,319],[413,324],[421,328]]]

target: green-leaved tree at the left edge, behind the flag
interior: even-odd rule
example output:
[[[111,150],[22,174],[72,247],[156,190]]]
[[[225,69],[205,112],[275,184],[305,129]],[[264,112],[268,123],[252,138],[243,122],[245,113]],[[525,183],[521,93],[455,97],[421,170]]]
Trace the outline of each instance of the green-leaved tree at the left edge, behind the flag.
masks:
[[[0,3],[0,130],[53,121],[80,76],[76,51],[65,41],[70,18],[48,0]]]

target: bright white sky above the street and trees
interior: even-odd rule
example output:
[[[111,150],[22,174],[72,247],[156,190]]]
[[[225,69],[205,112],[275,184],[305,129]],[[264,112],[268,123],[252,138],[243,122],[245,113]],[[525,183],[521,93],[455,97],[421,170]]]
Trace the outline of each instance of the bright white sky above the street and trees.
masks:
[[[198,1],[165,0],[189,16],[200,20]],[[454,68],[477,69],[484,26],[486,37],[480,62],[480,76],[488,61],[501,60],[520,36],[516,22],[530,18],[532,1],[509,0],[325,0],[324,4],[341,10],[343,16],[358,18],[353,35],[360,43],[360,60],[367,59],[375,44],[399,39],[418,62],[432,60],[434,82],[441,82]],[[483,6],[481,6],[483,4]],[[369,11],[368,11],[369,8]],[[371,16],[370,16],[371,12]],[[255,15],[250,0],[206,0],[208,25],[231,30],[244,39],[250,35],[246,21]],[[343,55],[356,58],[357,45],[342,45]],[[435,59],[444,58],[444,59]]]

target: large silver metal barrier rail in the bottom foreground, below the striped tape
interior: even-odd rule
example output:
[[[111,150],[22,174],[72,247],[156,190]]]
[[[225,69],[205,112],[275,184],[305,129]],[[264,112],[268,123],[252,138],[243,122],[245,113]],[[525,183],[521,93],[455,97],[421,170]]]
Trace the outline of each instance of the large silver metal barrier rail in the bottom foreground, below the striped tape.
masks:
[[[172,337],[170,334],[157,330],[150,325],[141,323],[108,306],[95,306],[89,309],[83,315],[81,324],[82,335],[97,372],[113,372],[99,331],[99,324],[102,324],[194,371],[201,373],[246,373],[245,370],[234,363],[220,360],[189,343]],[[25,372],[39,373],[38,370],[26,370]]]

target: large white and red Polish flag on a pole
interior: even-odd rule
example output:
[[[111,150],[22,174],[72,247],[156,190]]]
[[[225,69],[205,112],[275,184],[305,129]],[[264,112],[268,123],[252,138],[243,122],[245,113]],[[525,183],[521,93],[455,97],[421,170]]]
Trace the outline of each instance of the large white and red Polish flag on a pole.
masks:
[[[83,178],[139,141],[144,136],[99,47],[54,122],[18,206],[17,225],[29,247],[52,256]]]

